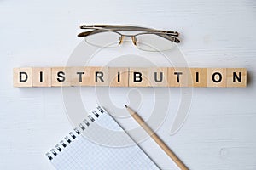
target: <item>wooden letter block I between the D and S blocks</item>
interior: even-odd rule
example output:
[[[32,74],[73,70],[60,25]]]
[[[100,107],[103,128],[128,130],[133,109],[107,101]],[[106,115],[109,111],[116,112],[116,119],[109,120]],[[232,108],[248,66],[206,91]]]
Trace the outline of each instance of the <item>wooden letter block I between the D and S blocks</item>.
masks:
[[[51,87],[51,68],[32,68],[32,87]]]

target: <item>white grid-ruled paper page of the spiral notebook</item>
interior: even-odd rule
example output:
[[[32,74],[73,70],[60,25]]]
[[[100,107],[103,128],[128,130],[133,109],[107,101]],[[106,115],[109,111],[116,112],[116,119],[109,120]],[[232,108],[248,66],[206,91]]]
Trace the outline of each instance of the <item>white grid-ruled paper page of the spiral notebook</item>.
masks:
[[[118,123],[108,113],[103,113],[96,122],[99,126],[112,130],[122,130]],[[93,132],[94,127],[85,129]],[[98,135],[102,135],[100,132]],[[127,147],[109,147],[95,144],[84,137],[77,135],[66,148],[53,157],[51,161],[56,169],[159,169],[137,144]],[[107,134],[108,135],[108,134]],[[105,134],[106,136],[106,134]],[[127,138],[130,138],[127,135]],[[106,139],[108,136],[106,136]]]

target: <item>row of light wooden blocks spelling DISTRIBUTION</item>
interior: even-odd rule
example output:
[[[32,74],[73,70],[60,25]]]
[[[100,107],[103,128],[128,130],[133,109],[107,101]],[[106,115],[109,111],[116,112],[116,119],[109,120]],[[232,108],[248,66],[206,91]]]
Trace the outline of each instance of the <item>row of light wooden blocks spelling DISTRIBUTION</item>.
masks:
[[[245,68],[14,68],[14,87],[246,87]]]

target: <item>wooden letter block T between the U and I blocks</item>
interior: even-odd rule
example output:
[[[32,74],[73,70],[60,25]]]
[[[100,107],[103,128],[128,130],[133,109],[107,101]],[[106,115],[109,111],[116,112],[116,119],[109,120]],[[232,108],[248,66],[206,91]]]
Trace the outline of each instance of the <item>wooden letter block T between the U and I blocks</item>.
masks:
[[[192,77],[189,68],[168,68],[169,87],[189,87]]]

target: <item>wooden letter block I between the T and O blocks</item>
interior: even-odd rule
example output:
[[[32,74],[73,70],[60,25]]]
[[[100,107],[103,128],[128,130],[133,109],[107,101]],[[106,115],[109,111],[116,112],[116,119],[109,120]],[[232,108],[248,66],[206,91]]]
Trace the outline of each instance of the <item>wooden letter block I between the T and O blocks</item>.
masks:
[[[190,73],[189,87],[207,87],[207,68],[190,68]]]

